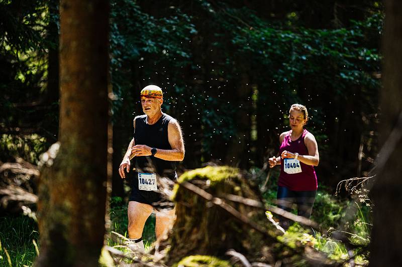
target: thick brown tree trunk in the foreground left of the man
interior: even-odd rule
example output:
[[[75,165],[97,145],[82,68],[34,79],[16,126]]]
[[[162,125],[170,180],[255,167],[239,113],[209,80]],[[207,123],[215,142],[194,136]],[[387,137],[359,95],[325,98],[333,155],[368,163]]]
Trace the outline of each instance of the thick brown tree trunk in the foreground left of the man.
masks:
[[[60,149],[40,177],[35,266],[98,266],[112,152],[108,14],[106,0],[61,1]]]

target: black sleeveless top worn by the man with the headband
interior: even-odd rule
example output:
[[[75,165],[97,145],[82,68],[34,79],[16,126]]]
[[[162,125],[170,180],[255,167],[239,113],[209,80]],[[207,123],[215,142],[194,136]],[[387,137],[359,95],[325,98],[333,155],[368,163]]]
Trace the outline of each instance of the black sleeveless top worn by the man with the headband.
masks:
[[[167,136],[167,127],[173,118],[162,113],[162,117],[152,125],[147,124],[146,119],[147,115],[138,116],[135,119],[134,144],[172,149]],[[176,161],[163,160],[154,156],[134,157],[133,160],[138,172],[157,173],[171,179],[176,177]]]

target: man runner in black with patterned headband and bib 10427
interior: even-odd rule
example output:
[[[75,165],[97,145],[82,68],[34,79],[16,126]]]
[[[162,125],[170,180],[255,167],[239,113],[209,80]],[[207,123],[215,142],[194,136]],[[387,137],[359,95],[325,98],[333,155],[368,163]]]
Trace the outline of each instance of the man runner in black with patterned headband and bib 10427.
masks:
[[[134,138],[120,164],[119,173],[126,178],[133,158],[134,177],[131,182],[131,195],[128,206],[128,231],[130,240],[135,242],[138,251],[144,253],[142,231],[145,221],[155,209],[156,237],[167,233],[173,223],[175,209],[160,209],[163,200],[158,192],[156,174],[177,179],[176,161],[184,158],[184,143],[178,122],[162,113],[162,90],[155,85],[146,86],[141,91],[141,106],[145,115],[134,119]]]

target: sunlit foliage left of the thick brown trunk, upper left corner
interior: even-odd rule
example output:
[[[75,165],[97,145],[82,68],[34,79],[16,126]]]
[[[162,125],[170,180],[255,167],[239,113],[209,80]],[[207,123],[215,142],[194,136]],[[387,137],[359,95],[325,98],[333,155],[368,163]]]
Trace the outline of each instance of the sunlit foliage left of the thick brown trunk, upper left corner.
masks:
[[[0,129],[3,133],[38,133],[56,139],[52,131],[58,126],[57,99],[54,103],[46,102],[48,53],[58,42],[57,26],[55,30],[49,27],[58,20],[55,5],[48,0],[0,1]]]

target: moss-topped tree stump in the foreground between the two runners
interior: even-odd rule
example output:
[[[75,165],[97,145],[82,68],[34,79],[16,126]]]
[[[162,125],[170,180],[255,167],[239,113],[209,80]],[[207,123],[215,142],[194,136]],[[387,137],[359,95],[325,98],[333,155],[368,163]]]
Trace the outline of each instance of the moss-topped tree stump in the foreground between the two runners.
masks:
[[[231,167],[205,167],[188,171],[180,176],[179,183],[190,182],[215,197],[225,199],[233,194],[261,200],[258,190],[241,175],[238,169]],[[176,221],[170,235],[168,263],[178,262],[188,255],[203,254],[225,257],[228,249],[250,255],[253,258],[269,258],[262,254],[266,235],[234,217],[220,205],[191,192],[181,185],[176,185],[173,196],[177,202]],[[269,225],[263,210],[239,202],[225,200],[225,203],[245,214],[247,218],[268,230]],[[169,264],[169,265],[170,265]]]

